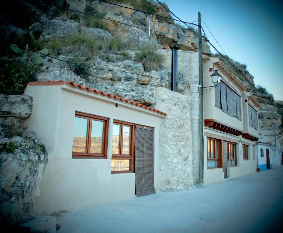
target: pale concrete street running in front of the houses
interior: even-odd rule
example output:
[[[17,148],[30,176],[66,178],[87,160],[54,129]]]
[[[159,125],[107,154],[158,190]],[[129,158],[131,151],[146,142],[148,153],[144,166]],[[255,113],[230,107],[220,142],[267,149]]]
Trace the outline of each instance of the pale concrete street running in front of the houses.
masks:
[[[80,208],[57,223],[58,233],[283,232],[283,165],[194,190]]]

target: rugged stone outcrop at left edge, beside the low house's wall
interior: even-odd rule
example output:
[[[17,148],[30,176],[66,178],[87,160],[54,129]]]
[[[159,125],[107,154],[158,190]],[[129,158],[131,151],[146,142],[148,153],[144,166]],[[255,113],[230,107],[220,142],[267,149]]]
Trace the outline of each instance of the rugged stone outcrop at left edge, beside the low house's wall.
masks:
[[[40,215],[34,203],[47,153],[23,123],[32,102],[27,95],[0,95],[0,223],[20,224]]]

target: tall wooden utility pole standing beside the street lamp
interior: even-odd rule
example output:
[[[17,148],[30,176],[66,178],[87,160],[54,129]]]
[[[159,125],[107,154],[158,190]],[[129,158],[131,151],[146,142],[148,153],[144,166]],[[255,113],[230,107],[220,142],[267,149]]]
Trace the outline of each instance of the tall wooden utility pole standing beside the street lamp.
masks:
[[[203,79],[202,79],[202,27],[201,15],[198,12],[198,41],[199,41],[199,98],[198,98],[198,128],[199,128],[199,183],[203,183]]]

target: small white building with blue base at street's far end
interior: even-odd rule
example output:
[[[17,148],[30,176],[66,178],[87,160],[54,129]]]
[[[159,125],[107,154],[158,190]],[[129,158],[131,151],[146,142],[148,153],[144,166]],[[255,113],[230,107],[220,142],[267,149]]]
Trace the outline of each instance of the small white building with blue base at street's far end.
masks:
[[[257,167],[260,171],[272,169],[271,151],[274,146],[265,142],[257,142]]]

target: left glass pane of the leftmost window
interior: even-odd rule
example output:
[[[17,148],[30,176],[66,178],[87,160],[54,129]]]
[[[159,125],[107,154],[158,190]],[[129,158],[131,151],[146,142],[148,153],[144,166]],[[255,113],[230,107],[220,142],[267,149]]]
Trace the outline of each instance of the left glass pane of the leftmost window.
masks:
[[[86,153],[87,131],[88,131],[88,119],[75,116],[73,152]]]

